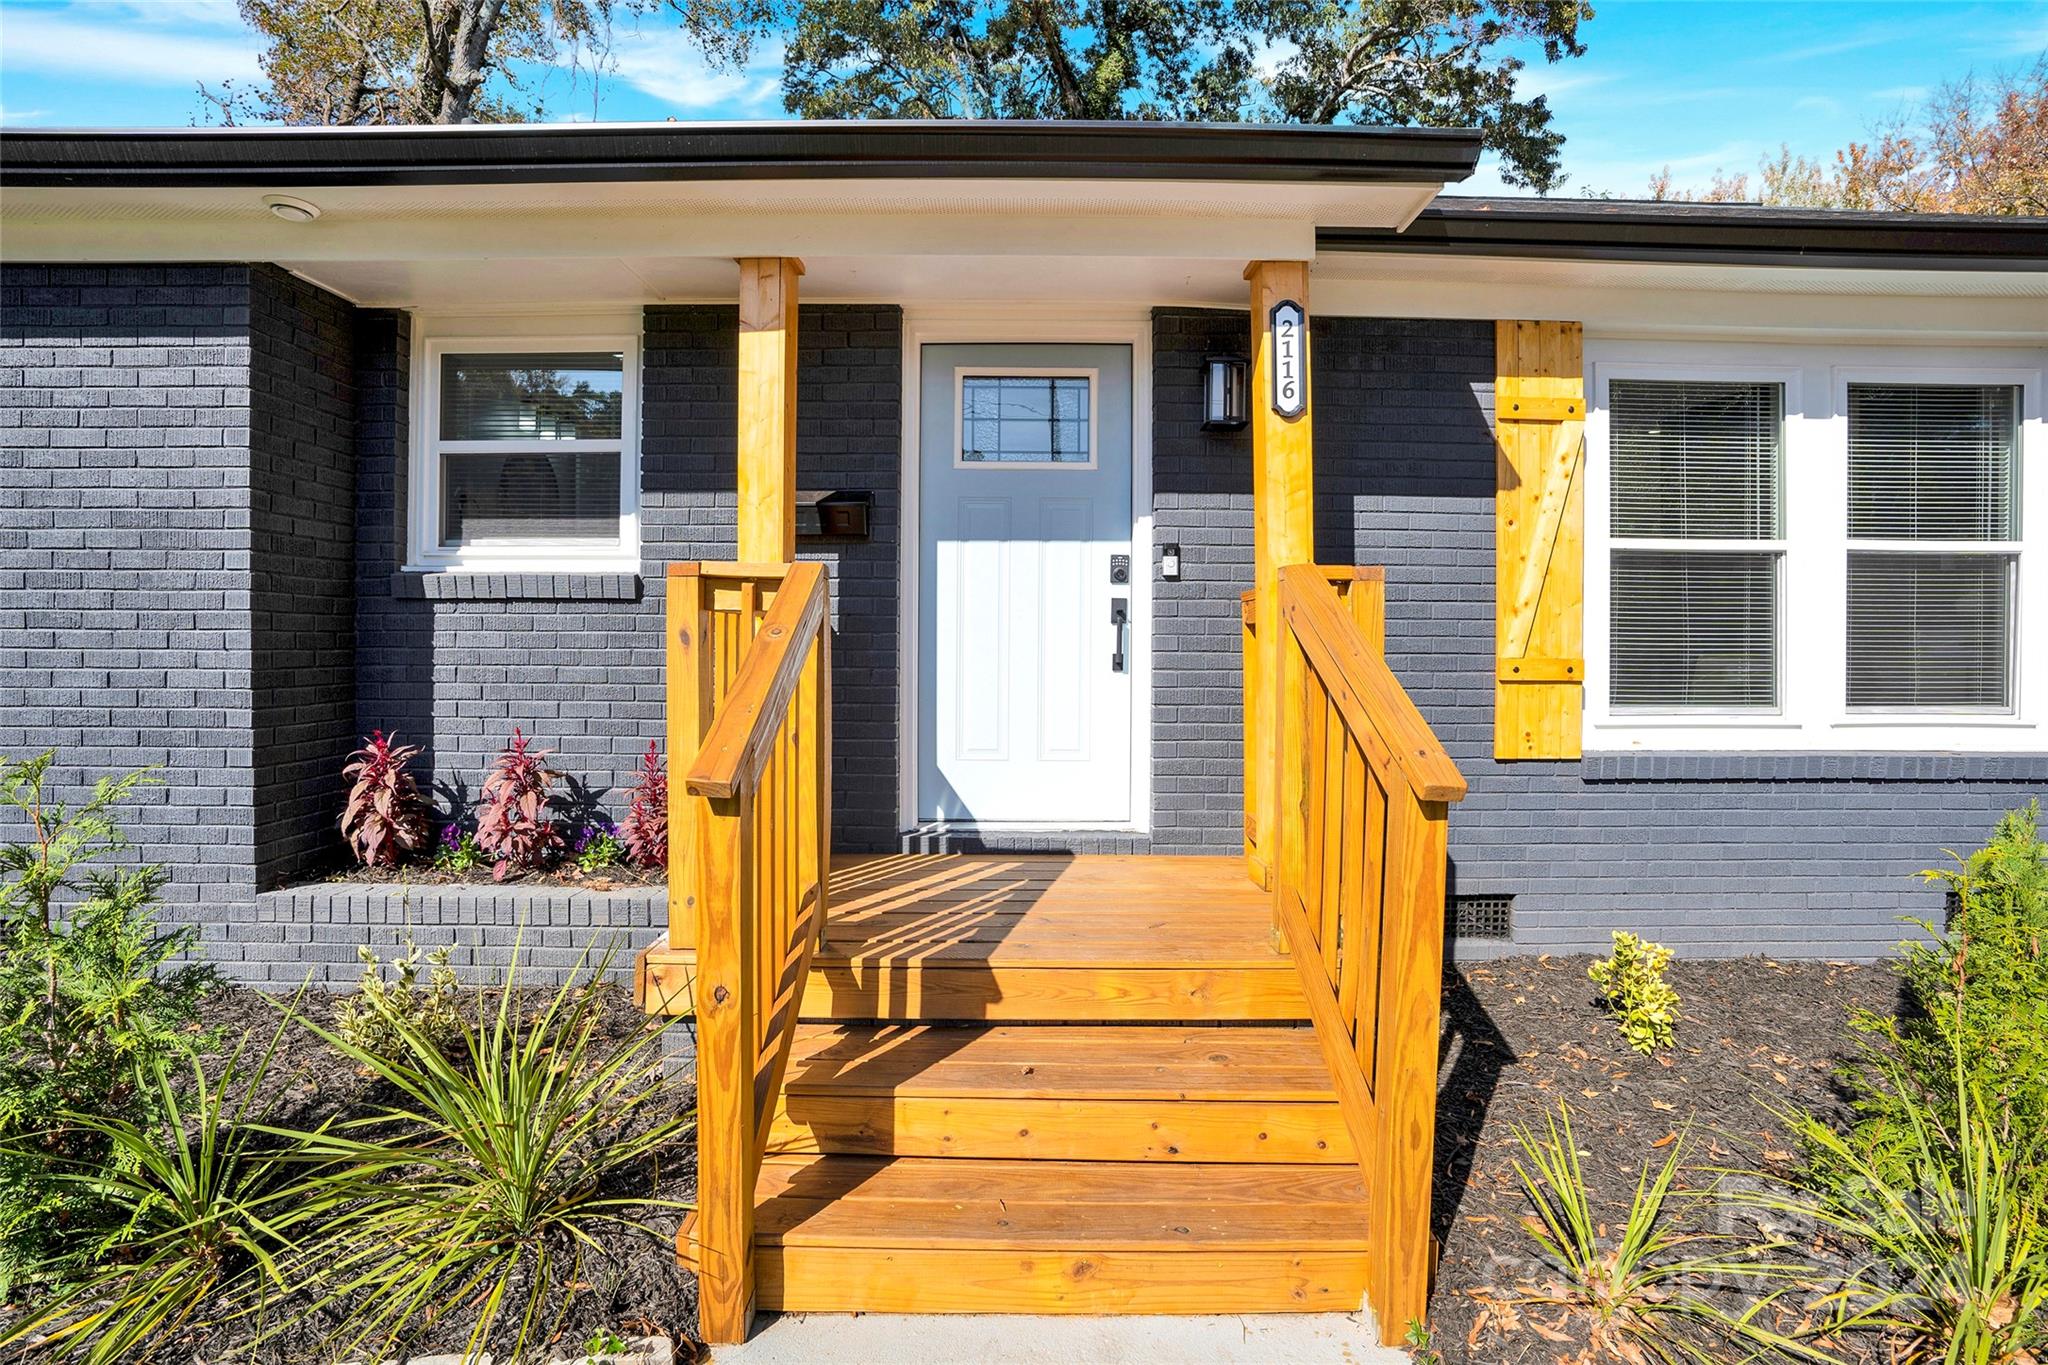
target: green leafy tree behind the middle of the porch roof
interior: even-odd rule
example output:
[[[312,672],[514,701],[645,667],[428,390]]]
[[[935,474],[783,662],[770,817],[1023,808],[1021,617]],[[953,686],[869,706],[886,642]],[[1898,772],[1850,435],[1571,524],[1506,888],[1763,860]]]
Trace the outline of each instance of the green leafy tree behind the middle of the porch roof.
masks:
[[[805,119],[1186,119],[1479,127],[1556,186],[1516,51],[1577,57],[1585,0],[694,0],[713,61],[782,51]]]

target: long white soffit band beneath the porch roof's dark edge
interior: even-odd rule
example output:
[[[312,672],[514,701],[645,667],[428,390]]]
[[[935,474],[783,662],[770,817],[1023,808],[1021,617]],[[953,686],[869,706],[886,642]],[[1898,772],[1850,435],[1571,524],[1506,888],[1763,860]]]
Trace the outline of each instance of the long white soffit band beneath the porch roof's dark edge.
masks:
[[[10,260],[1174,256],[1305,260],[1317,225],[1405,225],[1438,184],[705,180],[14,188]],[[266,194],[319,205],[279,221]]]

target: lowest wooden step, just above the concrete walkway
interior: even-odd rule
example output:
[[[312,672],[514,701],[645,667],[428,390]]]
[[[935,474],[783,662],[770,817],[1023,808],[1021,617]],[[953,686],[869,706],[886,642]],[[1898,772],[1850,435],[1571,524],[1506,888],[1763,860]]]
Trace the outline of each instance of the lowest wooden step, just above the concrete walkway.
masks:
[[[756,1195],[762,1308],[1352,1312],[1356,1166],[776,1156]]]

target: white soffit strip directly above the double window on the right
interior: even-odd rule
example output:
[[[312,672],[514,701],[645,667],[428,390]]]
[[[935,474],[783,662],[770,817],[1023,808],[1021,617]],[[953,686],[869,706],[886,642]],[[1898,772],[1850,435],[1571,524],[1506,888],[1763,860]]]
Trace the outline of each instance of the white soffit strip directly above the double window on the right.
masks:
[[[2048,340],[2048,270],[1862,270],[1325,252],[1317,311],[1571,317],[1612,334]]]

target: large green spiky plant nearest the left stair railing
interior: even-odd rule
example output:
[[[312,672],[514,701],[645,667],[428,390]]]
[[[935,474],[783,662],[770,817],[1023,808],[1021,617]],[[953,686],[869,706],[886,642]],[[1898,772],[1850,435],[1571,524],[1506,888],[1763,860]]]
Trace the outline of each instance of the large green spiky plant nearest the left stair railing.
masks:
[[[524,1359],[569,1308],[563,1297],[547,1318],[549,1295],[526,1287],[573,1293],[602,1228],[662,1240],[645,1212],[686,1205],[621,1183],[680,1156],[694,1115],[659,1105],[666,1025],[637,1021],[627,1038],[602,1038],[610,960],[586,952],[528,1017],[514,945],[498,1009],[465,1019],[453,1042],[395,1011],[387,1025],[401,1046],[389,1052],[309,1025],[397,1099],[313,1144],[334,1162],[328,1197],[348,1214],[295,1261],[311,1306],[274,1332],[317,1316],[342,1355],[381,1357],[463,1310],[475,1312],[467,1351],[504,1326],[510,1355]]]

